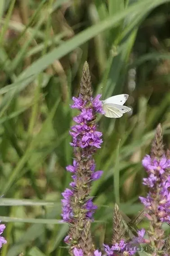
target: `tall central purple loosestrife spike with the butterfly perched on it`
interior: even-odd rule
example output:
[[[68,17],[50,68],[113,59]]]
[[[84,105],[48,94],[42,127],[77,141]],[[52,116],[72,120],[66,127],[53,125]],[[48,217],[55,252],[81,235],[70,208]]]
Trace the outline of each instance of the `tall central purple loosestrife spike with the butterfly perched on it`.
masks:
[[[71,127],[71,146],[74,148],[73,165],[66,167],[72,172],[73,181],[71,189],[66,189],[62,195],[63,221],[70,224],[68,236],[65,242],[70,245],[70,254],[73,256],[101,256],[95,250],[91,238],[90,222],[97,206],[93,204],[89,196],[91,183],[99,179],[102,171],[95,172],[93,154],[101,147],[103,140],[95,122],[96,114],[102,113],[101,95],[92,96],[89,66],[87,62],[83,67],[81,88],[79,97],[73,97],[72,108],[77,108],[80,113],[74,117],[76,122]]]

